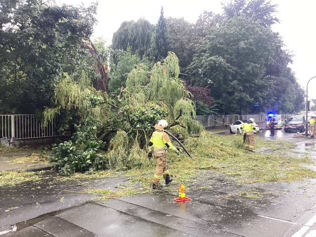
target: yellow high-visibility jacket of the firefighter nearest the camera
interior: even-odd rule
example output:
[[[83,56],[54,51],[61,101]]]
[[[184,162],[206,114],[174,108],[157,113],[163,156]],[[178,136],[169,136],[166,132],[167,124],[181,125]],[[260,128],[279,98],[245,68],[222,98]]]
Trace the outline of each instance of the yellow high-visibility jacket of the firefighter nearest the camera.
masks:
[[[172,144],[168,134],[164,132],[164,127],[154,125],[155,131],[152,133],[149,141],[148,151],[153,152],[154,156],[168,154],[168,149],[178,153],[177,148]]]

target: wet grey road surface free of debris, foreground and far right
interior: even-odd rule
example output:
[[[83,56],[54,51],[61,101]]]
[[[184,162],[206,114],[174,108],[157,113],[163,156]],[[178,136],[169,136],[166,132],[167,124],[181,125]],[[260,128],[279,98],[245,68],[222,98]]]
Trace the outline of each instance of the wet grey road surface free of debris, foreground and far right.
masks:
[[[269,134],[267,130],[259,136],[294,142],[296,151],[316,158],[313,139],[283,130],[274,137]],[[49,171],[45,175],[45,183],[0,188],[1,237],[316,236],[316,180],[241,185],[234,177],[202,170],[186,186],[190,201],[174,201],[179,196],[177,180],[164,190],[90,201],[95,195],[80,193],[84,188],[115,190],[128,181],[117,176],[61,182]],[[261,198],[243,197],[241,190],[261,193]]]

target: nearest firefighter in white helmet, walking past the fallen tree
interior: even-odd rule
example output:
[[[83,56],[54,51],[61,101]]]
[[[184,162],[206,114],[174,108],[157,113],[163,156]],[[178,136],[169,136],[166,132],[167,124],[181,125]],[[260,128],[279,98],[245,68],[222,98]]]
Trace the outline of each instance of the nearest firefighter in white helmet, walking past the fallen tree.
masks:
[[[157,159],[156,169],[152,177],[152,189],[162,189],[163,185],[159,184],[160,178],[163,176],[166,185],[169,184],[173,179],[169,175],[169,166],[167,163],[168,149],[179,154],[178,150],[173,144],[166,132],[163,130],[168,126],[166,120],[160,120],[158,124],[154,125],[155,131],[152,133],[149,144],[148,144],[148,158],[153,156]]]

